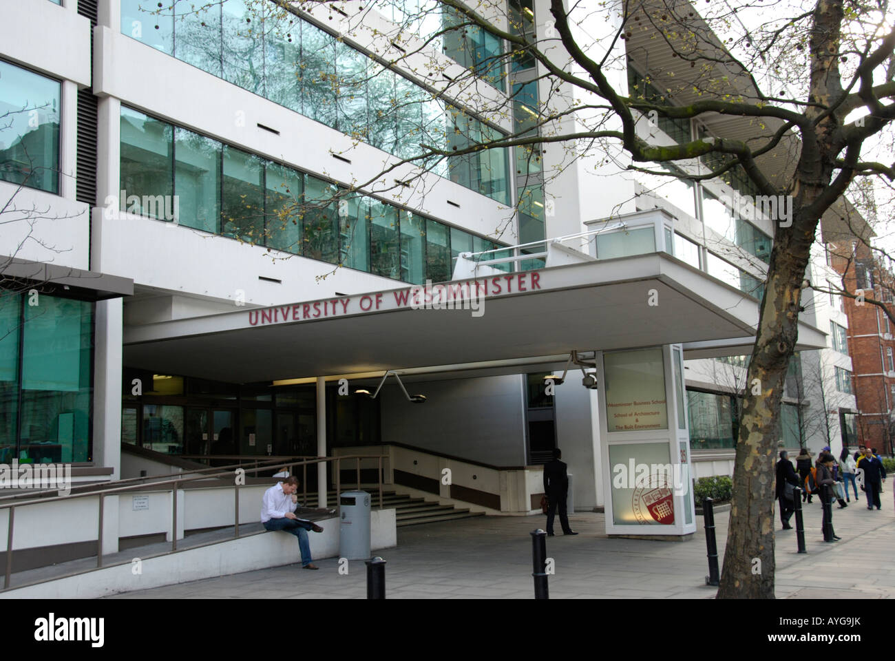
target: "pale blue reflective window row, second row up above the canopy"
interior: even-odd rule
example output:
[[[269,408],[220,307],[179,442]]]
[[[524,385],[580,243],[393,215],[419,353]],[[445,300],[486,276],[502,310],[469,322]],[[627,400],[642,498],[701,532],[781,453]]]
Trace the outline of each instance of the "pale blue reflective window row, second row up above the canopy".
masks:
[[[268,0],[227,0],[197,11],[186,0],[173,6],[172,11],[171,5],[156,9],[146,0],[122,0],[121,30],[402,159],[419,156],[421,144],[463,150],[501,135]],[[509,203],[506,149],[421,165]]]

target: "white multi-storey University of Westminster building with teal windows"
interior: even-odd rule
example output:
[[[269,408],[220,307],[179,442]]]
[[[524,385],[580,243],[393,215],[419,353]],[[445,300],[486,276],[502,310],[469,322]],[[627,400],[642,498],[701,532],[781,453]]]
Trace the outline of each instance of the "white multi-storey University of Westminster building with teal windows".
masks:
[[[652,500],[620,477],[641,463],[731,471],[730,393],[742,382],[736,360],[716,358],[754,342],[769,215],[741,212],[749,189],[736,173],[659,181],[597,151],[569,165],[562,150],[490,150],[411,185],[401,182],[413,164],[383,176],[421,142],[462,148],[526,128],[539,98],[571,98],[524,61],[457,90],[500,40],[407,38],[400,56],[392,21],[431,3],[394,4],[404,13],[0,0],[0,110],[13,118],[0,125],[0,200],[12,201],[0,264],[15,278],[0,298],[3,460],[116,480],[164,469],[134,447],[257,458],[362,449],[388,456],[398,491],[526,515],[559,447],[575,509],[611,511],[610,534],[691,534],[688,477],[681,489],[653,485]],[[546,2],[508,6],[529,34],[550,30]],[[429,16],[435,30],[442,18]],[[506,14],[493,19],[507,27]],[[619,43],[615,82],[649,96],[638,39]],[[654,141],[743,128],[646,117],[638,127]],[[360,190],[345,195],[351,186]],[[426,280],[459,282],[452,296],[467,302],[481,291],[484,313],[412,309],[411,287]],[[30,305],[32,290],[47,303]],[[825,347],[828,322],[844,325],[820,303],[799,348]],[[547,394],[544,376],[573,352],[567,382]],[[424,405],[393,377],[377,399],[354,394],[387,370]],[[853,409],[853,398],[827,408]],[[320,466],[308,479],[325,500]],[[375,462],[362,468],[375,481]],[[158,533],[118,511],[107,510],[105,549]],[[86,545],[91,534],[14,548]]]

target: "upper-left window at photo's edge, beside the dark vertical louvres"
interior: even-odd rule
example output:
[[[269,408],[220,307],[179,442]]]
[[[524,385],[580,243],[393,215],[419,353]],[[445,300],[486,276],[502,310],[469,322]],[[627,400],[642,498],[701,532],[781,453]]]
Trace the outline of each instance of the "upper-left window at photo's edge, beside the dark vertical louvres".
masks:
[[[61,86],[0,60],[0,179],[59,192]]]

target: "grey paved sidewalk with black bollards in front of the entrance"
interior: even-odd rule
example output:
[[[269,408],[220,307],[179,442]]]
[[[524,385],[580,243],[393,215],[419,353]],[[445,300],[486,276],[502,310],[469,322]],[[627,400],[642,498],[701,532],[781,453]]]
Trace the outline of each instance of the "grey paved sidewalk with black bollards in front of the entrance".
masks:
[[[887,489],[882,511],[854,501],[845,510],[833,504],[833,525],[842,537],[823,544],[821,506],[805,505],[807,554],[796,553],[795,530],[777,530],[777,597],[895,596],[895,517]],[[716,515],[718,545],[724,548],[729,512]],[[700,526],[687,542],[609,539],[603,515],[576,512],[569,518],[580,535],[548,537],[547,554],[556,564],[550,598],[684,597],[712,598],[705,536]],[[533,598],[529,532],[544,525],[536,517],[480,517],[398,528],[398,546],[385,549],[388,598]],[[298,550],[296,549],[296,561]],[[338,573],[335,558],[315,561],[320,571],[298,564],[204,579],[109,598],[366,598],[366,567],[349,564]],[[869,571],[868,568],[872,568]]]

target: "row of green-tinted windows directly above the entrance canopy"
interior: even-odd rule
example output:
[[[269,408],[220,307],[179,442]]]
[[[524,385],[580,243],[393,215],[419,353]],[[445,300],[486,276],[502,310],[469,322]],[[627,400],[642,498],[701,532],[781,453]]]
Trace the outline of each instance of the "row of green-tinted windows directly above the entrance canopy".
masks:
[[[367,196],[333,202],[336,185],[127,107],[121,190],[137,215],[415,284],[500,247]]]

